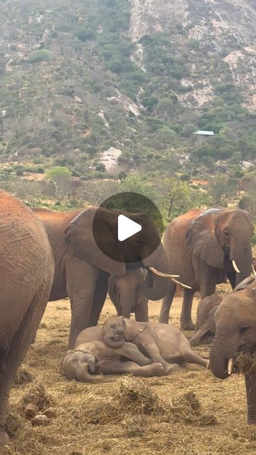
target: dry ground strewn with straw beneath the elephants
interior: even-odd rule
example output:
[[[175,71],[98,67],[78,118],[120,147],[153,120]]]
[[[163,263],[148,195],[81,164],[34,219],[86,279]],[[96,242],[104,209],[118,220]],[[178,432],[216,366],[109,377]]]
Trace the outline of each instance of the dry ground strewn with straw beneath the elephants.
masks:
[[[225,286],[222,290],[226,291]],[[197,304],[198,298],[194,319]],[[159,308],[160,302],[150,302],[151,321],[157,321]],[[180,311],[178,296],[171,309],[175,326],[179,326]],[[101,321],[114,314],[107,300]],[[180,369],[164,378],[110,376],[95,384],[68,381],[58,367],[66,350],[69,323],[68,300],[48,304],[36,342],[23,363],[33,381],[16,385],[11,392],[12,437],[9,446],[0,449],[1,455],[255,454],[256,429],[246,424],[242,376],[221,381],[209,370]],[[195,350],[208,356],[208,346]],[[22,407],[28,392],[28,401],[36,401],[35,387],[38,391],[40,382],[45,387],[41,407],[49,407],[51,402],[56,411],[56,417],[42,427],[32,426]],[[193,393],[184,395],[188,392]],[[188,406],[186,397],[192,395],[194,400],[193,394],[197,404]],[[163,407],[168,408],[168,415],[163,414]]]

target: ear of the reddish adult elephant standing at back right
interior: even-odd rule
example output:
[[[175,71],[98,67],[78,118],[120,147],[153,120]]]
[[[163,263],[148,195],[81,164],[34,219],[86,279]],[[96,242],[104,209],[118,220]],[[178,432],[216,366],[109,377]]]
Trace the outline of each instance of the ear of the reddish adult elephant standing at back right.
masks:
[[[224,252],[215,237],[214,216],[222,210],[206,210],[193,221],[186,232],[186,240],[193,255],[200,257],[210,267],[223,268]]]

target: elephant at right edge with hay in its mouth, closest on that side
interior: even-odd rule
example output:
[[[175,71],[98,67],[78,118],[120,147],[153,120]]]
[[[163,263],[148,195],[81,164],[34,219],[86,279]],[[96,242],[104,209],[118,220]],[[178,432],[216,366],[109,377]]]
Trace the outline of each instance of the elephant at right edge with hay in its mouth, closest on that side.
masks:
[[[228,360],[256,347],[256,281],[248,277],[223,298],[215,312],[215,338],[210,348],[210,369],[228,378]],[[247,422],[256,424],[256,370],[245,373]]]

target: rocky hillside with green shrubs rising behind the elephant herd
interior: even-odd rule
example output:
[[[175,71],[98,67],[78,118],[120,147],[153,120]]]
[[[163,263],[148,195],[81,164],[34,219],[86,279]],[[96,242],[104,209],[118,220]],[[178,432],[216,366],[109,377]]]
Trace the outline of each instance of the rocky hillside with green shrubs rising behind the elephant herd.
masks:
[[[255,1],[0,0],[0,21],[0,179],[253,173]]]

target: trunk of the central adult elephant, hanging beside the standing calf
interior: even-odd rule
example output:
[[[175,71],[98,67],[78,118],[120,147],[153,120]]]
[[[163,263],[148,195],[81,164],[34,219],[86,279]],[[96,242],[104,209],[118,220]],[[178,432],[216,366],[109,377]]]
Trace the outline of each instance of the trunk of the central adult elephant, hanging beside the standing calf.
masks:
[[[164,252],[164,247],[160,243],[159,247],[152,255],[143,260],[144,267],[154,267],[162,273],[171,274],[171,268]],[[168,293],[171,286],[169,278],[157,277],[152,272],[148,272],[143,286],[143,294],[149,300],[162,299]]]

